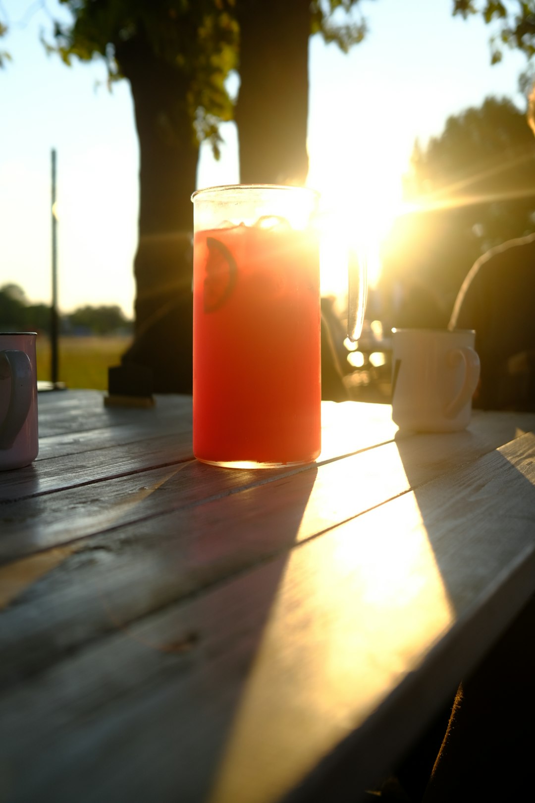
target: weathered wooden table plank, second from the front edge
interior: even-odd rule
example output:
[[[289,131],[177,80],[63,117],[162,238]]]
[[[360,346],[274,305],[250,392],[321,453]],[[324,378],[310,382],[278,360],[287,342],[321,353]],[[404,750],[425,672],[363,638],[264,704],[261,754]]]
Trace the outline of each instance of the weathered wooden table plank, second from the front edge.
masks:
[[[464,439],[474,445],[473,436]],[[63,552],[56,549],[57,562],[51,564],[55,571],[47,577],[39,555],[6,565],[0,581],[2,576],[4,584],[13,576],[15,581],[5,604],[16,604],[2,622],[5,660],[0,683],[48,666],[85,640],[107,633],[118,621],[127,625],[422,486],[441,474],[440,442],[443,449],[451,446],[448,438],[414,438],[403,446],[403,459],[395,444],[387,444],[318,471],[217,496],[209,503],[190,498],[187,506],[172,513],[68,543]],[[522,442],[529,451],[529,436]],[[521,454],[521,444],[518,450]],[[456,467],[452,454],[449,460],[445,455],[443,463],[444,471]],[[191,471],[193,488],[205,487],[199,471],[211,474],[209,467],[197,463],[184,466],[186,471]],[[356,485],[354,477],[360,478]],[[34,582],[35,572],[39,583]]]

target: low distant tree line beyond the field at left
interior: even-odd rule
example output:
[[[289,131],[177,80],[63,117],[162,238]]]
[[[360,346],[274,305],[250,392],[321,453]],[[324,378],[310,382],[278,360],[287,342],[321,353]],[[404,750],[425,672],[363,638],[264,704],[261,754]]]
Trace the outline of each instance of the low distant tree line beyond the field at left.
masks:
[[[47,304],[30,304],[18,284],[0,287],[0,331],[43,332],[50,334],[51,308]],[[60,316],[61,334],[107,335],[132,332],[132,321],[117,304],[75,309]]]

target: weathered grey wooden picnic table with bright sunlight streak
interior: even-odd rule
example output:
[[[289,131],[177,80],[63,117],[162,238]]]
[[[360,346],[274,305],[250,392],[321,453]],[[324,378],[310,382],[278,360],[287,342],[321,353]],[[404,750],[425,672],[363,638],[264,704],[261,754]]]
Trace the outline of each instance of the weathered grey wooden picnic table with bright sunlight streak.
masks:
[[[358,801],[535,591],[535,415],[193,459],[189,397],[39,394],[0,475],[0,799]]]

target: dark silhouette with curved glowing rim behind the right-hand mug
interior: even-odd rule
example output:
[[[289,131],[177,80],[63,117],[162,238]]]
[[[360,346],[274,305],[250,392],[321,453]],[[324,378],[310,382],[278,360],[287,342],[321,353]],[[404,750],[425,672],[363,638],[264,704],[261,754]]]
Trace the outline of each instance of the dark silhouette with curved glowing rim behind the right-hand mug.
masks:
[[[476,261],[449,326],[476,330],[481,377],[474,406],[535,410],[535,234]]]

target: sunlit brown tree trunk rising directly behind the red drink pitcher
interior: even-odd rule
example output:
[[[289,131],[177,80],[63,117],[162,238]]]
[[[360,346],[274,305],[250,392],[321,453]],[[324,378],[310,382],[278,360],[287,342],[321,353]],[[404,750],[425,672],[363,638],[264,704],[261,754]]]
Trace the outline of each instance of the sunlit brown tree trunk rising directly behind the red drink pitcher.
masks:
[[[302,184],[308,173],[310,0],[241,0],[236,122],[245,184]]]

